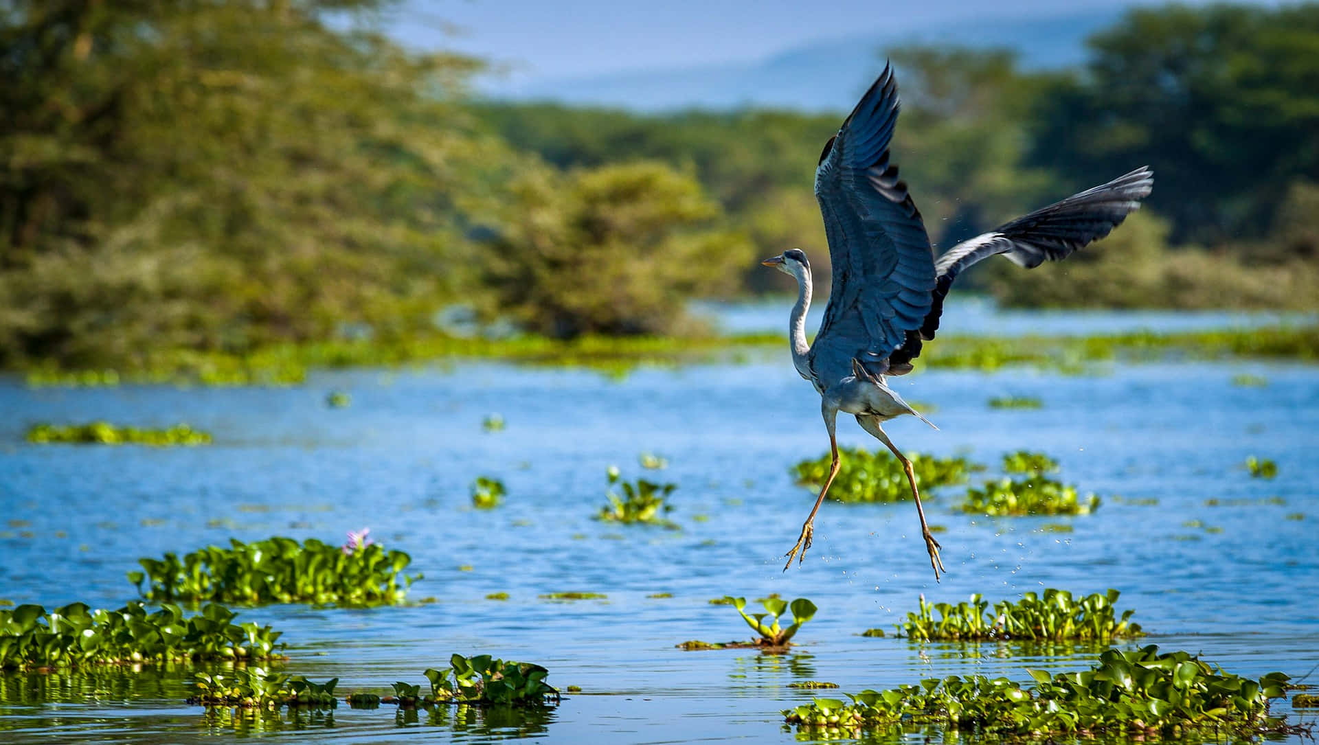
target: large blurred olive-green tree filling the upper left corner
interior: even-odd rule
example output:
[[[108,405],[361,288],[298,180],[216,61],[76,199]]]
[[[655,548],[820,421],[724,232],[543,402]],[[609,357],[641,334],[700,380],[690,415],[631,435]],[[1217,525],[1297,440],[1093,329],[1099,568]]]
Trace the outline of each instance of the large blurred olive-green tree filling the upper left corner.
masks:
[[[7,3],[0,364],[429,328],[505,148],[384,5]]]

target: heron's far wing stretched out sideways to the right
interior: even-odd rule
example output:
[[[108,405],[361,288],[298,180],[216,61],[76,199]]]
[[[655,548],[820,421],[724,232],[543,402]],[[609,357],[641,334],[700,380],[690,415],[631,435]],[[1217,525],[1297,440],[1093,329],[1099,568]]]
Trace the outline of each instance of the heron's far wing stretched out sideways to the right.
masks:
[[[934,339],[944,295],[958,274],[972,264],[998,253],[1026,269],[1045,261],[1062,261],[1078,248],[1107,236],[1126,215],[1140,208],[1140,200],[1149,196],[1153,189],[1154,173],[1149,166],[1141,166],[950,248],[934,265],[938,285],[934,305],[921,324],[921,338]],[[904,352],[919,353],[919,343],[904,347]],[[905,353],[901,356],[905,357]]]

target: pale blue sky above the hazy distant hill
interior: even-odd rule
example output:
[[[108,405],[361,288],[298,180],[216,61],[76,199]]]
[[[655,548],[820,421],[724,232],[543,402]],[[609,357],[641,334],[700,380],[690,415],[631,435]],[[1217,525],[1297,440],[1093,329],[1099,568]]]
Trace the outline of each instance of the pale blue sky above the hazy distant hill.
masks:
[[[859,33],[909,32],[971,18],[1039,17],[1132,4],[1128,0],[401,1],[390,12],[390,29],[397,38],[414,47],[447,47],[503,62],[514,80],[747,62]]]

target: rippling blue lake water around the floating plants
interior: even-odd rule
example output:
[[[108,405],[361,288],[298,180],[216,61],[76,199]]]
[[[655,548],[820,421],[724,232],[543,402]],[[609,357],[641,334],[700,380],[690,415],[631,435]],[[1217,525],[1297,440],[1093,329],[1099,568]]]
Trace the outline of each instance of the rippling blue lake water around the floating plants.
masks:
[[[1233,385],[1241,373],[1268,385]],[[859,636],[874,626],[892,634],[921,593],[955,603],[980,592],[995,601],[1045,587],[1112,587],[1122,592],[1119,607],[1137,609],[1134,620],[1153,633],[1140,643],[1202,653],[1252,676],[1282,670],[1299,678],[1319,665],[1319,367],[918,371],[898,388],[929,405],[942,427],[892,422],[888,431],[905,450],[991,465],[1010,450],[1046,451],[1060,460],[1064,481],[1104,504],[1075,518],[987,520],[958,512],[962,488],[950,488],[927,502],[930,521],[947,529],[939,541],[948,574],[935,584],[911,505],[830,502],[805,564],[783,572],[781,556],[814,498],[787,469],[827,448],[818,397],[786,349],[773,364],[640,369],[621,380],[488,363],[324,372],[298,388],[28,389],[0,378],[0,599],[117,607],[135,596],[124,574],[140,556],[231,537],[339,542],[369,526],[386,547],[412,554],[410,571],[425,574],[410,597],[435,603],[241,609],[239,620],[285,633],[284,670],[338,676],[343,692],[384,694],[394,680],[423,683],[422,670],[447,666],[451,653],[489,653],[545,665],[561,690],[582,687],[549,713],[512,721],[388,705],[247,719],[186,705],[186,667],[0,675],[0,741],[790,742],[780,709],[813,698],[789,688],[793,682],[831,680],[855,692],[934,675],[1028,679],[1028,666],[1088,666],[1057,647]],[[351,406],[327,407],[330,390],[348,392]],[[1033,396],[1043,407],[993,410],[987,400],[995,396]],[[483,431],[492,413],[506,421],[504,431]],[[24,442],[38,421],[96,418],[185,421],[215,443]],[[839,430],[842,444],[874,444],[849,419]],[[669,468],[642,471],[644,451],[667,458]],[[1275,460],[1277,479],[1252,479],[1249,455]],[[628,479],[678,484],[670,517],[683,529],[592,520],[611,464]],[[468,484],[481,475],[505,481],[504,506],[471,509]],[[1058,522],[1074,530],[1043,529]],[[561,591],[608,599],[537,597]],[[493,592],[509,599],[484,599]],[[661,592],[673,597],[648,597]],[[674,649],[692,638],[747,638],[732,608],[707,601],[770,592],[819,607],[793,654]]]

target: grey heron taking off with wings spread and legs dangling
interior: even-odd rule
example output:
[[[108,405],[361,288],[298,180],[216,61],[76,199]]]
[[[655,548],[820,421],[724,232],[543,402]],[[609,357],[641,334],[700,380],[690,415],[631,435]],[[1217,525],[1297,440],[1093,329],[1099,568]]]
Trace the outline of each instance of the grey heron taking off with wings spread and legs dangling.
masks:
[[[834,432],[839,411],[853,414],[861,429],[902,463],[934,579],[947,571],[939,558],[939,542],[925,522],[911,462],[881,426],[902,414],[934,425],[889,388],[888,376],[911,372],[921,344],[934,339],[939,328],[943,298],[959,273],[998,253],[1026,269],[1066,258],[1108,235],[1140,207],[1154,183],[1149,167],[1136,169],[959,243],[936,260],[921,212],[906,183],[898,181],[897,166],[889,162],[889,140],[897,119],[897,83],[892,67],[885,66],[820,153],[815,198],[824,215],[834,282],[814,344],[806,342],[806,309],[811,303],[811,265],[806,253],[793,248],[761,262],[797,278],[797,305],[789,322],[793,367],[820,394],[832,455],[828,477],[802,525],[802,534],[785,554],[783,571],[793,566],[798,551],[798,564],[806,558],[815,513],[838,475]]]

